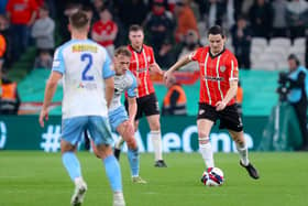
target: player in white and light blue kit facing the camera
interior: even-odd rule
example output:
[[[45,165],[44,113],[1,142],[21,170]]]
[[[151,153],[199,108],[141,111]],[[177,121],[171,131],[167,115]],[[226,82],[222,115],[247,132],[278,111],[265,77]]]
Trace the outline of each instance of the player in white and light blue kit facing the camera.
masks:
[[[117,131],[128,143],[128,159],[131,167],[133,183],[145,184],[146,181],[139,176],[139,151],[134,139],[134,118],[136,113],[136,79],[129,71],[131,52],[127,46],[120,46],[116,50],[113,66],[114,95],[109,107],[109,122],[113,131]],[[128,93],[129,113],[121,104],[121,95]]]

